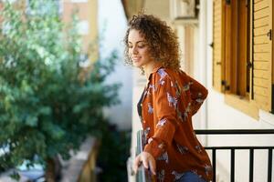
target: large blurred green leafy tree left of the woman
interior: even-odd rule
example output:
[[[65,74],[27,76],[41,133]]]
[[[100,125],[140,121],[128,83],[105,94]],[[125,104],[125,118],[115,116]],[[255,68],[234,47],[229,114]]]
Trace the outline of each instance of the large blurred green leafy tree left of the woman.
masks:
[[[119,85],[104,84],[116,54],[79,79],[77,21],[64,25],[55,1],[31,2],[4,3],[0,13],[0,170],[68,159],[87,135],[100,135],[102,107],[118,103]]]

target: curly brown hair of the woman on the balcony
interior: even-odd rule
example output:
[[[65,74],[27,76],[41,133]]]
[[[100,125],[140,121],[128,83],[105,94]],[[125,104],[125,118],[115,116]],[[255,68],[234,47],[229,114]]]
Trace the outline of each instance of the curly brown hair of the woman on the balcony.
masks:
[[[160,61],[163,67],[179,69],[180,52],[178,38],[172,28],[154,15],[133,15],[124,36],[125,64],[132,66],[129,56],[128,37],[132,29],[139,30],[149,45],[149,52],[154,60]],[[141,68],[142,69],[142,68]]]

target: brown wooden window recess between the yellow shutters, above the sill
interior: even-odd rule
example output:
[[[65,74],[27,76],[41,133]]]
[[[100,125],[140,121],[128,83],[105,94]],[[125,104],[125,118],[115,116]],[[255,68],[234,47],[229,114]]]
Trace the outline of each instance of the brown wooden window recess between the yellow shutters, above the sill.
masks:
[[[250,8],[248,1],[226,1],[225,74],[222,86],[228,94],[248,97],[250,93]]]

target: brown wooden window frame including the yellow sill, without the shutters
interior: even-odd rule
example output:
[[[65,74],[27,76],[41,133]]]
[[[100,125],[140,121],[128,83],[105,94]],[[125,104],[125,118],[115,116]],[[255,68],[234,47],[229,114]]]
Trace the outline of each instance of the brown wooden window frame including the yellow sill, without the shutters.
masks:
[[[238,1],[233,1],[230,0],[230,3],[235,3],[237,4]],[[248,64],[249,66],[244,66],[245,62],[242,61],[241,64],[237,65],[237,59],[238,59],[238,47],[237,47],[237,34],[239,32],[238,27],[236,28],[235,26],[233,26],[234,29],[237,29],[237,34],[234,34],[233,38],[234,41],[228,41],[227,39],[230,37],[227,37],[226,33],[227,33],[227,20],[228,22],[232,21],[232,18],[236,17],[235,19],[237,19],[237,15],[238,13],[234,12],[234,16],[231,15],[231,11],[233,11],[231,9],[231,6],[227,6],[227,1],[222,0],[222,4],[223,4],[223,11],[224,11],[224,22],[222,23],[222,45],[223,45],[223,49],[222,51],[224,51],[224,53],[222,53],[222,57],[224,60],[224,64],[222,65],[222,71],[224,73],[224,80],[222,80],[222,91],[225,94],[225,103],[228,106],[233,106],[234,108],[236,108],[237,110],[247,114],[248,116],[252,116],[253,118],[258,120],[258,106],[256,101],[253,100],[253,17],[252,17],[252,12],[253,12],[253,5],[252,5],[253,1],[250,0],[248,2],[248,15],[247,15],[247,21],[248,21],[248,25],[247,25],[247,41],[248,41],[248,45],[246,46],[246,64]],[[234,4],[234,8],[237,8],[237,5]],[[235,7],[236,6],[236,7]],[[227,11],[226,11],[227,8]],[[230,9],[229,9],[230,8]],[[234,25],[237,25],[237,21],[233,20]],[[228,29],[228,34],[233,34],[231,29]],[[243,41],[243,40],[242,40]],[[233,50],[232,50],[233,49]],[[231,52],[234,51],[234,54],[232,55]],[[232,61],[228,61],[228,60],[232,60]],[[243,63],[244,62],[244,63]],[[240,67],[238,67],[240,66]],[[244,76],[244,78],[242,78],[242,82],[245,83],[244,86],[241,86],[240,88],[238,88],[238,77],[237,75],[239,74],[237,70],[237,68],[242,68],[240,73],[245,73],[246,76]],[[249,68],[249,70],[248,70]],[[234,70],[234,72],[232,72]],[[249,72],[248,72],[249,71]],[[234,75],[234,76],[232,76]],[[249,80],[247,80],[247,77],[249,75]],[[244,80],[244,81],[243,81]],[[243,90],[246,90],[246,86],[249,85],[249,92],[245,92],[245,94],[243,94]],[[232,89],[230,89],[232,86]],[[241,94],[237,94],[237,89],[241,90]]]

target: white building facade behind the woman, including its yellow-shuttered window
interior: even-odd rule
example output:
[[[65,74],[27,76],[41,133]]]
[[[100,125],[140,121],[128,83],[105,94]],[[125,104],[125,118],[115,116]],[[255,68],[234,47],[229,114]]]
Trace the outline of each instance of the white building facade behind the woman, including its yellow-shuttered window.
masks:
[[[224,92],[225,86],[222,86],[223,80],[221,79],[221,75],[227,73],[225,74],[226,76],[223,76],[226,81],[226,78],[231,78],[233,76],[232,73],[235,72],[233,64],[229,65],[224,61],[227,60],[227,62],[229,62],[229,60],[234,60],[233,57],[227,58],[229,55],[226,56],[226,54],[228,54],[227,50],[229,50],[227,44],[231,40],[229,39],[228,41],[228,39],[226,39],[228,28],[225,31],[224,25],[226,25],[226,22],[229,20],[226,18],[230,17],[231,19],[228,23],[231,27],[234,27],[234,21],[231,21],[233,20],[233,16],[229,16],[234,15],[234,13],[231,13],[230,10],[234,5],[238,5],[238,8],[244,8],[241,1],[166,0],[161,2],[163,6],[154,3],[152,0],[146,0],[143,1],[142,8],[145,8],[147,14],[157,15],[174,27],[174,31],[178,35],[181,45],[182,68],[190,76],[200,81],[209,91],[204,106],[202,106],[200,111],[194,116],[195,129],[273,129],[274,114],[273,104],[271,104],[274,97],[272,94],[273,91],[271,91],[271,86],[274,83],[273,42],[271,39],[273,35],[271,35],[271,31],[268,33],[269,30],[273,29],[272,1],[247,1],[248,19],[245,20],[240,17],[237,24],[237,29],[241,30],[246,27],[240,25],[241,19],[248,22],[248,28],[245,29],[247,33],[244,34],[247,39],[243,41],[250,40],[247,43],[248,48],[246,48],[246,51],[249,54],[248,58],[250,62],[253,63],[253,66],[251,66],[253,70],[249,72],[247,69],[245,70],[250,74],[250,77],[248,77],[248,74],[245,75],[246,80],[248,80],[245,82],[248,87],[246,93],[244,92],[245,96],[238,94],[240,91],[233,92],[232,85],[234,78],[230,79],[230,91],[226,90]],[[230,4],[227,4],[229,2]],[[244,2],[246,3],[246,1]],[[191,11],[193,7],[195,8],[195,14]],[[229,10],[229,8],[231,9]],[[166,11],[169,12],[167,13]],[[185,11],[189,13],[187,14]],[[224,11],[227,11],[227,16],[224,15]],[[264,22],[267,23],[264,25]],[[228,23],[226,27],[230,27]],[[217,29],[218,26],[220,26],[219,29]],[[233,28],[229,30],[231,35],[236,34],[233,32]],[[263,30],[268,32],[262,32]],[[258,32],[262,33],[260,34]],[[241,32],[237,32],[237,34],[236,39],[244,37],[241,35]],[[256,37],[256,35],[259,35],[259,37]],[[237,44],[240,44],[240,42],[233,41],[234,39],[229,43],[232,49]],[[262,51],[260,51],[261,49]],[[243,50],[241,49],[241,45],[238,45],[238,50]],[[264,50],[267,51],[264,52]],[[237,52],[237,50],[235,51]],[[240,55],[240,51],[235,53],[232,50],[230,55]],[[221,59],[222,64],[228,64],[228,66],[216,68],[216,66],[221,65],[220,63],[216,63],[217,56]],[[266,58],[260,61],[259,57]],[[229,66],[230,69],[228,69]],[[240,65],[237,69],[241,69],[241,67],[243,66]],[[219,69],[219,72],[223,71],[222,73],[216,73],[216,69]],[[239,73],[241,72],[239,71],[237,73],[236,80],[241,79],[242,75]],[[219,78],[216,78],[218,74]],[[260,79],[261,77],[262,79]],[[219,83],[216,84],[216,81],[219,81]],[[249,81],[250,83],[248,84]],[[141,96],[144,83],[145,78],[139,76],[139,73],[136,72],[133,76],[132,94],[132,158],[135,156],[135,147],[137,145],[136,132],[141,129],[136,105],[139,101],[139,96]],[[240,81],[237,81],[237,83],[240,83],[238,87],[243,85]],[[262,85],[263,89],[259,88],[260,85]],[[204,146],[274,146],[274,135],[201,136],[200,138]],[[210,151],[209,155],[211,156]],[[267,181],[268,157],[268,150],[255,150],[253,181]],[[248,161],[248,150],[235,152],[235,181],[249,181]],[[229,150],[216,152],[216,181],[230,181],[230,162]],[[272,181],[274,180],[273,174],[274,167],[272,162]],[[130,177],[130,181],[134,181],[134,177]]]

